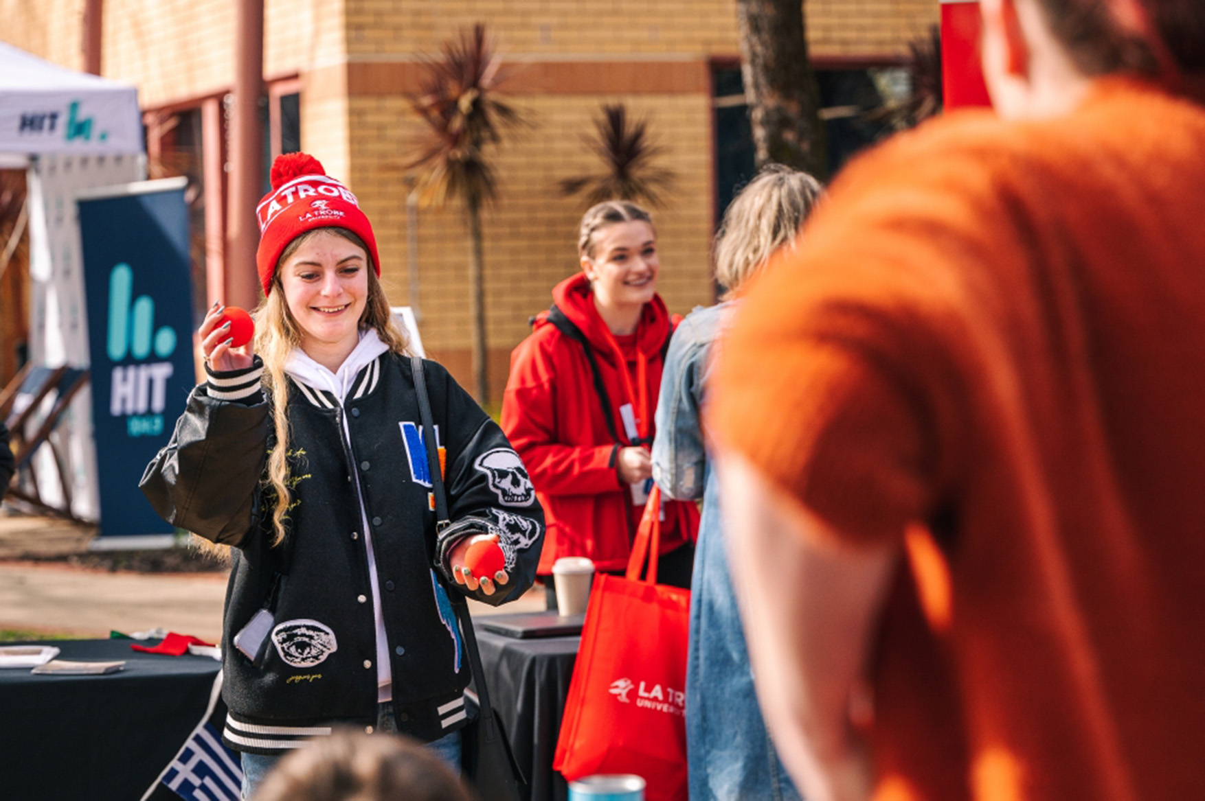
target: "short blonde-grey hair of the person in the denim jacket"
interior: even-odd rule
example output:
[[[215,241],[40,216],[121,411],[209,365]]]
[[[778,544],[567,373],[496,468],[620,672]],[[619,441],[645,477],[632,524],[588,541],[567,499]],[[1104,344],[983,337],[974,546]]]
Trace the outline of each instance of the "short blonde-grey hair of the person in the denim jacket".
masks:
[[[716,279],[725,298],[748,281],[795,235],[821,196],[821,182],[781,164],[770,164],[728,205],[716,234]]]

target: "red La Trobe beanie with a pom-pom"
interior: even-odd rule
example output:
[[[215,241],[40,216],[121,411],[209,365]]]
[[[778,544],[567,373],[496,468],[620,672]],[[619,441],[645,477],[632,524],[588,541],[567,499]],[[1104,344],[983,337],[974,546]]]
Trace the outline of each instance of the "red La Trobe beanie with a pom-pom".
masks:
[[[381,276],[372,225],[360,211],[355,195],[327,175],[318,159],[307,153],[286,153],[272,163],[272,190],[255,207],[259,248],[255,267],[264,296],[272,289],[276,263],[289,242],[316,228],[346,228],[362,240]]]

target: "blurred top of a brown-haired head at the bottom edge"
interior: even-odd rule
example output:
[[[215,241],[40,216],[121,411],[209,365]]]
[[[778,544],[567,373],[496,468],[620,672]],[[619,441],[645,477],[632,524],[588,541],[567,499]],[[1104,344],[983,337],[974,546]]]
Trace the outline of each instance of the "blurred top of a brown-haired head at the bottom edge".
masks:
[[[408,737],[342,730],[289,754],[253,801],[470,801],[448,765]]]

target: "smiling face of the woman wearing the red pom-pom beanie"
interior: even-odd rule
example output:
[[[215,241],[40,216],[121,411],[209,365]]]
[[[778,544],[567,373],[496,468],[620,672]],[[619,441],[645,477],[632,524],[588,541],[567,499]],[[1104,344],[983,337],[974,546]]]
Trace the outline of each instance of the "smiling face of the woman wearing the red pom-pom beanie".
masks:
[[[364,248],[329,231],[317,231],[281,264],[281,288],[301,331],[301,349],[319,364],[342,364],[359,342],[369,296]]]

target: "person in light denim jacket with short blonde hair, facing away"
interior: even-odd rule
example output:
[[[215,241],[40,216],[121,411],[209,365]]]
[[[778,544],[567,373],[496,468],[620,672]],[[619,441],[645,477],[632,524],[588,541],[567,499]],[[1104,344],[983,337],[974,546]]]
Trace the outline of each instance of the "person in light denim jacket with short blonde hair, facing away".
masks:
[[[757,706],[745,630],[728,573],[718,487],[699,419],[709,353],[735,311],[737,301],[731,298],[775,251],[792,246],[819,192],[811,176],[778,165],[764,170],[741,192],[728,207],[716,238],[716,277],[728,288],[725,300],[687,316],[665,358],[653,478],[666,497],[703,497],[686,678],[692,801],[800,797]]]

